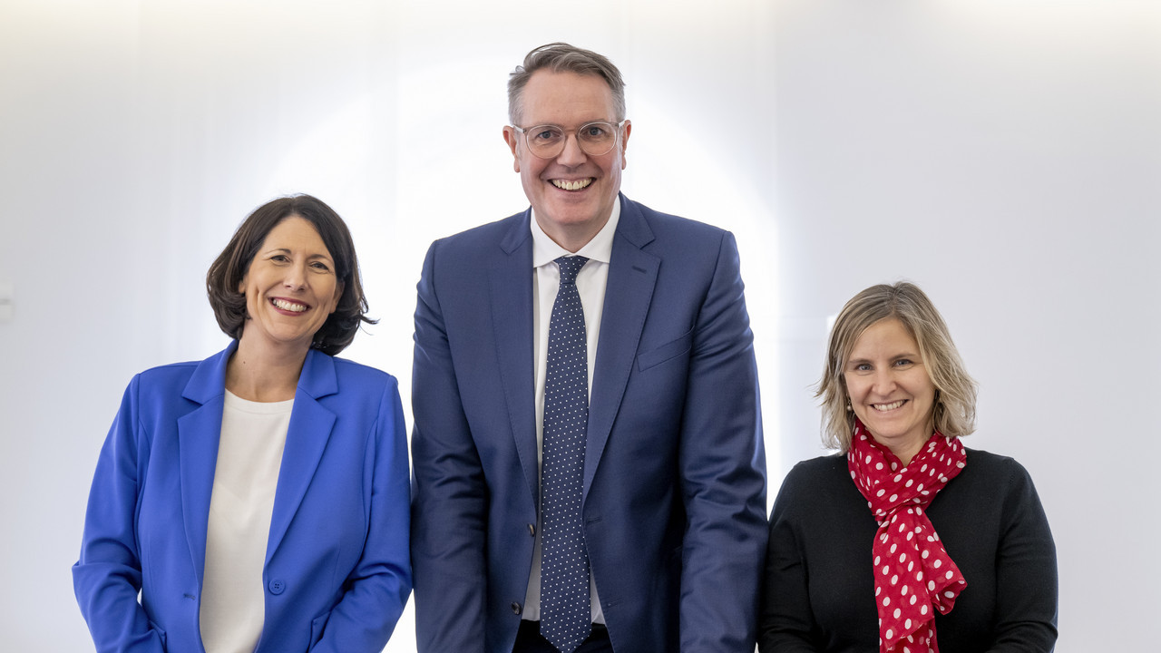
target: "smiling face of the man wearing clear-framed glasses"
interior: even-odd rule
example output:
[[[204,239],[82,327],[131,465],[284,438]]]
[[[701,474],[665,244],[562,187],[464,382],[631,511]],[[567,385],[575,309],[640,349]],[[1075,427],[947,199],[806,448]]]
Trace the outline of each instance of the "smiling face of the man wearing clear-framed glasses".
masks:
[[[580,150],[576,130],[594,121],[613,124],[613,91],[598,76],[540,70],[533,73],[520,96],[520,124],[528,129],[557,125],[567,134],[564,149],[551,159],[528,151],[522,142],[528,134],[504,129],[520,173],[524,192],[536,214],[536,222],[553,241],[577,251],[600,231],[613,210],[621,189],[625,148],[632,124],[626,121],[616,145],[606,155],[593,157]]]

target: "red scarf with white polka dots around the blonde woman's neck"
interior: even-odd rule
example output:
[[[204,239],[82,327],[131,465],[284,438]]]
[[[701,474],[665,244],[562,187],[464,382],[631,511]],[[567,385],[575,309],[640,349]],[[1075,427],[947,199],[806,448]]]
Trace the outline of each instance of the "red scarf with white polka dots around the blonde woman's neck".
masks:
[[[935,610],[946,615],[967,587],[924,509],[967,461],[958,438],[936,431],[907,467],[854,422],[846,462],[879,522],[874,596],[881,653],[939,653]]]

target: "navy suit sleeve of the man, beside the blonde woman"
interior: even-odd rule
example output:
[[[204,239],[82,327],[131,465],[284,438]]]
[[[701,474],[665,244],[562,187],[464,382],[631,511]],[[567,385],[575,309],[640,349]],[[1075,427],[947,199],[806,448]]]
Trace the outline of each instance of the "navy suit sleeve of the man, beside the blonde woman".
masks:
[[[682,651],[752,653],[766,462],[753,336],[729,234],[694,326],[680,437]]]

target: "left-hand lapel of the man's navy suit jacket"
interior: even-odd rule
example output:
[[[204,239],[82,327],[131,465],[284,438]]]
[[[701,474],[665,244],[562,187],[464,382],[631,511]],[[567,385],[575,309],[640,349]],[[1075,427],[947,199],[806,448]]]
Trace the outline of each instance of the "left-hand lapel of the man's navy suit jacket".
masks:
[[[536,455],[535,367],[532,333],[532,232],[529,211],[514,216],[500,241],[504,256],[489,271],[492,331],[500,382],[507,403],[517,454],[528,491],[540,509],[540,462]]]

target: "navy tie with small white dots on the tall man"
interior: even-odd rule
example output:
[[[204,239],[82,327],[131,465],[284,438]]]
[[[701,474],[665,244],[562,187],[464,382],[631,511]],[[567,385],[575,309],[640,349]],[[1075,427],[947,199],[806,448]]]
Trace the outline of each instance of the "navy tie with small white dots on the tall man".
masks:
[[[543,522],[540,632],[572,653],[589,637],[589,553],[580,521],[585,430],[589,425],[589,352],[576,278],[589,259],[561,257],[561,288],[548,323],[545,375]]]

